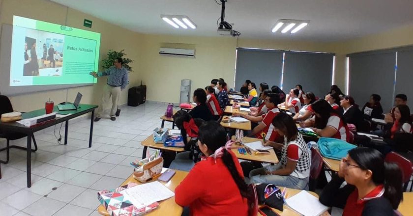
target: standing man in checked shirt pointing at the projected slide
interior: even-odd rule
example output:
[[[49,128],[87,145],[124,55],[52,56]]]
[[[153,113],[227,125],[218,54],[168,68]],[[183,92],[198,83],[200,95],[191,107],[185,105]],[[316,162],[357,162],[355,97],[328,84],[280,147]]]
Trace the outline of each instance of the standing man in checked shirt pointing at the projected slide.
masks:
[[[118,109],[118,102],[121,90],[128,84],[128,71],[122,66],[122,58],[115,59],[114,65],[104,72],[91,72],[90,74],[97,78],[101,76],[109,76],[105,92],[102,97],[102,104],[97,109],[97,116],[94,121],[99,121],[102,118],[103,111],[110,104],[110,97],[112,96],[111,120],[115,121],[116,111]]]

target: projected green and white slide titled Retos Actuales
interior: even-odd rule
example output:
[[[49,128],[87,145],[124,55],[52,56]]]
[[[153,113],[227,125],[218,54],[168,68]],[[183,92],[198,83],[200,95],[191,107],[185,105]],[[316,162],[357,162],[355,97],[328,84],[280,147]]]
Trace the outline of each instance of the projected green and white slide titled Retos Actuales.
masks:
[[[10,86],[96,83],[100,33],[13,17]]]

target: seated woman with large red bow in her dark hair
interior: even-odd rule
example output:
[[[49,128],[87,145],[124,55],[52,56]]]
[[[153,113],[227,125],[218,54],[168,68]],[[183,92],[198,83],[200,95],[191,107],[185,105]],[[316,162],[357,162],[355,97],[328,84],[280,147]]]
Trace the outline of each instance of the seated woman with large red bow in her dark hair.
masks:
[[[195,163],[200,160],[201,152],[198,148],[197,143],[199,131],[198,128],[204,122],[205,121],[201,118],[192,118],[192,116],[185,110],[179,110],[174,114],[174,124],[181,132],[183,143],[185,143],[185,152],[176,154],[175,159],[172,158],[172,162],[167,162],[168,164],[171,164],[169,168],[189,171],[195,165]],[[190,138],[189,141],[188,137]],[[165,153],[169,155],[170,152],[171,151],[165,151],[162,153],[162,155],[164,156]],[[170,157],[167,158],[169,159]],[[164,164],[165,162],[166,159],[164,158]]]

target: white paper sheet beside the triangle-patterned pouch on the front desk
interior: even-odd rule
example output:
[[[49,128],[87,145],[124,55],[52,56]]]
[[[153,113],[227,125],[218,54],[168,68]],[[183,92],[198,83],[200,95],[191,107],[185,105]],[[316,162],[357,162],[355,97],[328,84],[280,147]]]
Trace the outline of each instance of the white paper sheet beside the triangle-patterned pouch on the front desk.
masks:
[[[175,196],[175,193],[158,181],[137,185],[120,191],[138,209],[154,202]]]

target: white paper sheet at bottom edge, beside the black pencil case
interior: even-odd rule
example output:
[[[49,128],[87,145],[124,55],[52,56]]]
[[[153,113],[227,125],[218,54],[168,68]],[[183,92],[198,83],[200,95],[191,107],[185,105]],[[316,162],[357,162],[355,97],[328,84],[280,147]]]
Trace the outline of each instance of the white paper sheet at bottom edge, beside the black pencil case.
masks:
[[[304,216],[319,216],[328,209],[315,196],[305,190],[286,199],[286,202],[288,206]]]

